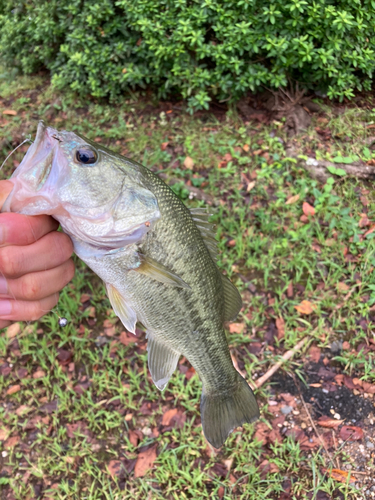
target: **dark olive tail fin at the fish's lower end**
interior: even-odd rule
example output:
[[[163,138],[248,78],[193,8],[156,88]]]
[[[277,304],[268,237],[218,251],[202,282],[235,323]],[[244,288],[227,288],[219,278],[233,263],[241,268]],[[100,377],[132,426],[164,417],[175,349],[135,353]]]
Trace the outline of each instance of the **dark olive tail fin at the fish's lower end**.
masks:
[[[253,391],[238,373],[238,385],[231,392],[221,395],[203,392],[201,416],[207,441],[220,448],[236,427],[259,418],[259,408]]]

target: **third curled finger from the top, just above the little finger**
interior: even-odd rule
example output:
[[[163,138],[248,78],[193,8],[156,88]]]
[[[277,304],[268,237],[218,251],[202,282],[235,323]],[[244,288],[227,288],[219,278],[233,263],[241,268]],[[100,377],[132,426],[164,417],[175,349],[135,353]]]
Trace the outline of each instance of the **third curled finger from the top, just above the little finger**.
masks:
[[[0,277],[0,300],[40,300],[60,291],[74,276],[74,263],[67,260],[61,266],[48,271],[29,273],[18,279]]]

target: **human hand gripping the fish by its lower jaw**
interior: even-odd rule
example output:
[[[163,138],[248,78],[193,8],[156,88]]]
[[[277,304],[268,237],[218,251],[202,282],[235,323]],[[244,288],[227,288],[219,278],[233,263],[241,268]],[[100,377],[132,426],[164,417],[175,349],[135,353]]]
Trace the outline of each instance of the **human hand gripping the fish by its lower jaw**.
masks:
[[[0,208],[12,188],[0,181]],[[0,328],[48,313],[73,278],[73,244],[58,227],[48,215],[0,214]]]

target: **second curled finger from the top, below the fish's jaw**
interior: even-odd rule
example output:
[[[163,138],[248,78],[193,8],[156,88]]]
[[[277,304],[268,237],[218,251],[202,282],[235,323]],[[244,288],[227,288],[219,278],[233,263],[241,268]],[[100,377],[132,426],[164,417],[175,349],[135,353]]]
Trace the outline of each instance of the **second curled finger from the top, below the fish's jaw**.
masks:
[[[49,233],[32,245],[0,248],[0,272],[5,278],[47,271],[61,266],[73,253],[72,240],[64,233]]]

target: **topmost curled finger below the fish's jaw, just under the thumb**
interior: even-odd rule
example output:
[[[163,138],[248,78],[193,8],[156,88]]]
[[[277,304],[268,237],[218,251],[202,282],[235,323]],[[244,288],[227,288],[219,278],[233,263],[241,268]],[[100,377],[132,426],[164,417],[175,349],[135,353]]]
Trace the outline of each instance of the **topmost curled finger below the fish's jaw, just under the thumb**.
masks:
[[[0,246],[30,245],[58,227],[49,215],[0,214]]]

